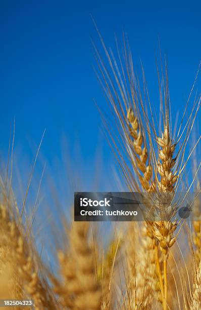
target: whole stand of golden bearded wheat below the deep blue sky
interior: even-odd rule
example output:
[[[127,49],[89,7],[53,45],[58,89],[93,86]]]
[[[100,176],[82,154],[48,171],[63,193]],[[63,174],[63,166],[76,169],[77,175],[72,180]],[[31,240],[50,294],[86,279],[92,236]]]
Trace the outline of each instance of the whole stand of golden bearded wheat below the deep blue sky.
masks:
[[[166,64],[158,69],[156,108],[145,80],[142,87],[134,73],[127,44],[122,54],[117,49],[115,58],[101,36],[100,41],[104,56],[94,46],[96,73],[114,126],[105,115],[103,121],[124,184],[129,191],[146,193],[147,214],[143,222],[116,223],[107,246],[98,242],[94,223],[75,222],[73,217],[63,221],[62,242],[55,244],[57,267],[51,269],[35,246],[25,206],[17,204],[2,173],[0,299],[32,300],[35,309],[199,310],[200,137],[196,131],[192,142],[191,133],[200,95],[192,98],[193,85],[176,122]],[[189,167],[192,175],[186,172]],[[178,218],[185,199],[193,211],[190,220]]]

